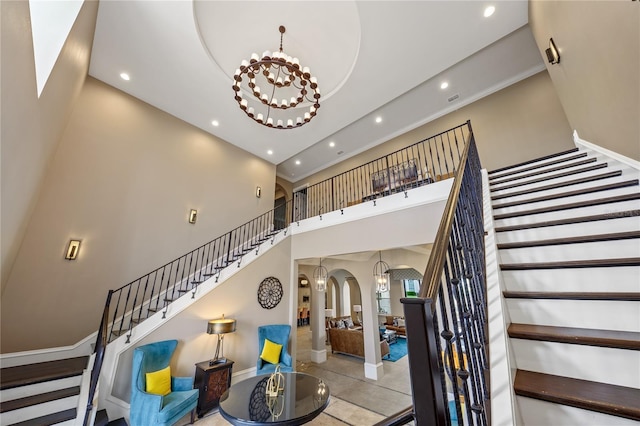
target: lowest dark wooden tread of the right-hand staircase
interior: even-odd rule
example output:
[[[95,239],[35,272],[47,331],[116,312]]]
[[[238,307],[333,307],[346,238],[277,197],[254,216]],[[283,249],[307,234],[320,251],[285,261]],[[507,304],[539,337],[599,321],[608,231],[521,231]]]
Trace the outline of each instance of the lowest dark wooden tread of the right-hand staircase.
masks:
[[[516,395],[640,420],[640,389],[517,370]]]

